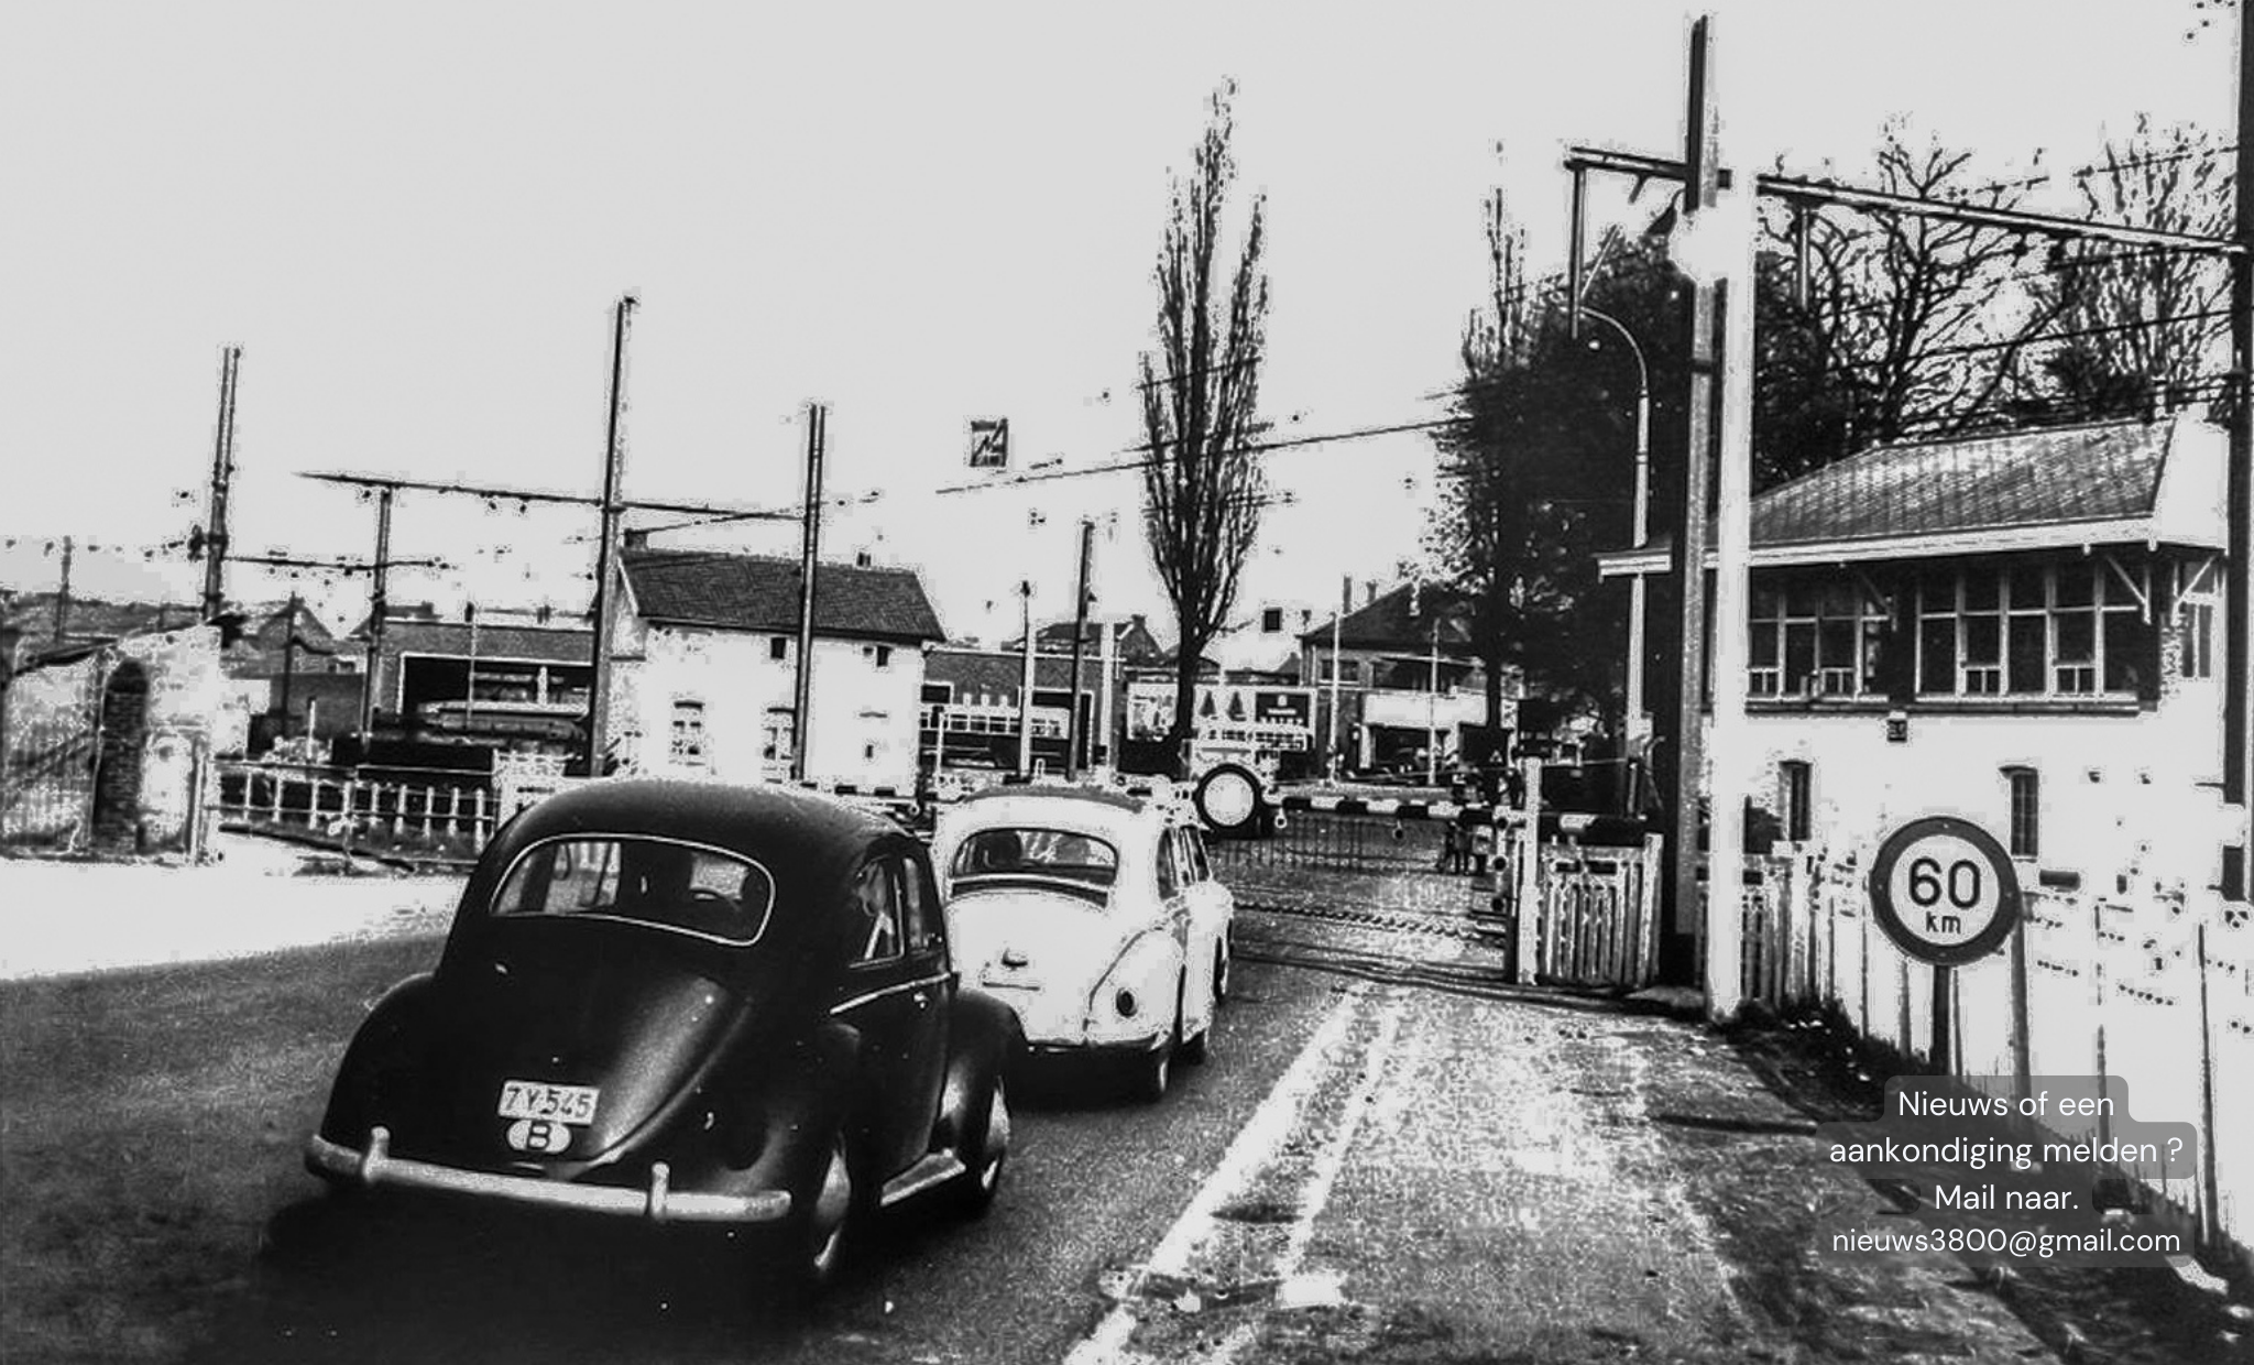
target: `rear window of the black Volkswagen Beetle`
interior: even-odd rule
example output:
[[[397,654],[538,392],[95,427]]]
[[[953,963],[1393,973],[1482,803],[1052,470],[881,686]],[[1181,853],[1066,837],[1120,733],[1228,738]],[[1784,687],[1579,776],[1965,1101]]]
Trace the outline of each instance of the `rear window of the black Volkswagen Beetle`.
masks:
[[[496,916],[602,916],[751,943],[775,880],[735,853],[669,839],[550,839],[509,869]]]

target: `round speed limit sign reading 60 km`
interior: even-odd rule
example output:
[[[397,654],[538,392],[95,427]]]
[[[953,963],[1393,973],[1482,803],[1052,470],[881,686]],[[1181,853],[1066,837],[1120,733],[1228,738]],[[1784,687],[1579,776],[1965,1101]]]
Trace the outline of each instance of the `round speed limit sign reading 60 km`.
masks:
[[[1909,957],[1963,966],[1995,952],[2020,923],[2020,873],[1977,824],[1914,819],[1878,846],[1871,912]]]

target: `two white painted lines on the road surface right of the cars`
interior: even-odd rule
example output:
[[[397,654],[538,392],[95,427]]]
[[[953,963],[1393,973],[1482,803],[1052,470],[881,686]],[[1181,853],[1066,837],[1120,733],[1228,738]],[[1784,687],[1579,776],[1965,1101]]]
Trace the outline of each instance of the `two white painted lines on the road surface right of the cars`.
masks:
[[[1098,1322],[1095,1329],[1071,1349],[1071,1354],[1066,1354],[1064,1365],[1127,1365],[1145,1358],[1143,1354],[1127,1349],[1127,1340],[1134,1336],[1138,1322],[1134,1311],[1134,1286],[1147,1275],[1186,1277],[1190,1272],[1190,1257],[1199,1245],[1210,1243],[1222,1230],[1222,1221],[1215,1214],[1228,1200],[1251,1189],[1260,1171],[1278,1160],[1285,1144],[1298,1130],[1307,1101],[1314,1099],[1316,1087],[1332,1072],[1334,1054],[1346,1045],[1355,1013],[1368,995],[1370,986],[1366,981],[1357,981],[1339,997],[1339,1004],[1330,1009],[1307,1045],[1301,1047],[1296,1058],[1292,1058],[1292,1067],[1267,1092],[1260,1108],[1253,1110],[1251,1119],[1246,1119],[1244,1128],[1237,1130],[1235,1139],[1228,1144],[1228,1153],[1222,1157],[1222,1164],[1199,1187],[1197,1196],[1181,1212],[1181,1216],[1174,1218],[1174,1225],[1168,1227],[1159,1248],[1129,1282],[1125,1297],[1111,1306],[1104,1320]],[[1339,1169],[1346,1164],[1346,1153],[1361,1126],[1361,1115],[1368,1110],[1370,1097],[1382,1081],[1384,1060],[1393,1047],[1395,1033],[1400,1031],[1402,1011],[1404,999],[1395,995],[1393,1004],[1386,1009],[1375,1042],[1364,1056],[1361,1076],[1355,1092],[1346,1101],[1341,1121],[1316,1153],[1314,1173],[1305,1185],[1301,1207],[1294,1214],[1292,1234],[1285,1243],[1283,1257],[1278,1259],[1280,1277],[1289,1277],[1307,1252],[1307,1243],[1314,1236],[1314,1218],[1330,1200],[1330,1189],[1339,1178]],[[1237,1340],[1240,1336],[1244,1340]],[[1251,1336],[1240,1329],[1222,1342],[1222,1358],[1233,1356],[1249,1345],[1249,1340]]]

